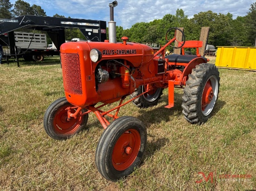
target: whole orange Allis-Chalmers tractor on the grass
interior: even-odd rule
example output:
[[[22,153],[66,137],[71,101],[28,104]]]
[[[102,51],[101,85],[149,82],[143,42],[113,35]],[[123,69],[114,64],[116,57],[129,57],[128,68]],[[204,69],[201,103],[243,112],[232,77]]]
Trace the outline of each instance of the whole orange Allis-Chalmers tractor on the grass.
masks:
[[[47,134],[64,140],[85,128],[88,114],[94,113],[105,129],[96,148],[95,162],[101,175],[111,181],[134,171],[147,143],[146,127],[140,120],[132,116],[118,117],[123,105],[133,102],[139,108],[154,106],[163,89],[168,88],[166,108],[171,108],[174,106],[174,88],[184,88],[183,114],[190,123],[202,124],[213,111],[220,86],[216,66],[207,64],[205,57],[165,56],[166,47],[177,41],[176,33],[155,54],[147,45],[127,42],[127,37],[122,37],[123,42],[117,43],[116,5],[116,1],[109,4],[109,40],[61,45],[65,97],[53,102],[44,115]],[[171,28],[168,32],[171,30],[176,32],[179,29]],[[185,45],[183,34],[179,47],[173,48]],[[124,102],[127,96],[131,99]],[[118,101],[117,107],[101,110],[103,106]],[[113,121],[109,122],[111,118]]]

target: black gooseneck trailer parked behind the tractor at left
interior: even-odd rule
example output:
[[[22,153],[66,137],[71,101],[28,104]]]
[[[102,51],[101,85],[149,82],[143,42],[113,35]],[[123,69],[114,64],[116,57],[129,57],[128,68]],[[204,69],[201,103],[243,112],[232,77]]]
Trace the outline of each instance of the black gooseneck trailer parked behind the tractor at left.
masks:
[[[25,59],[34,56],[38,60],[41,59],[41,55],[59,55],[60,47],[65,43],[66,28],[78,28],[88,41],[104,42],[107,39],[106,21],[23,15],[14,19],[0,19],[0,44],[2,46],[8,44],[10,55],[16,56],[19,66],[18,58],[20,55]],[[14,37],[14,30],[18,29],[47,32],[57,51],[51,49],[36,50],[29,47],[27,50],[19,49],[15,45]]]

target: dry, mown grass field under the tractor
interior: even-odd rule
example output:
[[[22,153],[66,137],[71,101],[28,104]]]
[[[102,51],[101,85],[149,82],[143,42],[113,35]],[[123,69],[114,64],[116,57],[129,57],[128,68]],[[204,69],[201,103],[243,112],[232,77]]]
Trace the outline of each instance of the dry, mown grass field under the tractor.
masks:
[[[121,108],[119,116],[145,124],[148,145],[135,172],[113,183],[94,163],[103,132],[94,115],[69,140],[53,140],[44,131],[44,112],[64,96],[59,57],[20,65],[0,65],[0,191],[256,190],[256,72],[219,69],[219,100],[213,117],[200,126],[182,115],[182,89],[175,90],[171,109],[164,108],[167,89],[155,107]],[[213,183],[210,177],[195,183],[202,179],[198,172],[206,178],[213,172]],[[240,174],[248,176],[232,177]]]

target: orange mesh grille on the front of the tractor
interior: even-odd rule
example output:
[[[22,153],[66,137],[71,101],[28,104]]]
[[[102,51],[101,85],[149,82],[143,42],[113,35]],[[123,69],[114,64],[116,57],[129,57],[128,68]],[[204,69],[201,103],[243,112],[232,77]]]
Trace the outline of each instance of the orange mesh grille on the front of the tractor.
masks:
[[[82,95],[79,54],[61,53],[63,85],[70,94]]]

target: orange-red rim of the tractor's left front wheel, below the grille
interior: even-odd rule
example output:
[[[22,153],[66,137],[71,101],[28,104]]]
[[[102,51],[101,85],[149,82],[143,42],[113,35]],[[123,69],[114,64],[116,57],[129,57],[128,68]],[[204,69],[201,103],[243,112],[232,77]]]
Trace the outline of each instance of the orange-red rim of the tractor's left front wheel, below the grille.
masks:
[[[70,121],[67,121],[67,107],[67,105],[61,107],[54,116],[54,131],[58,134],[72,134],[81,126],[81,116],[76,119],[72,117]],[[71,112],[75,113],[75,109],[72,109]],[[82,114],[82,112],[80,112],[80,114]]]

